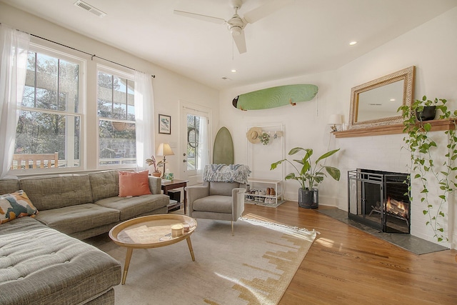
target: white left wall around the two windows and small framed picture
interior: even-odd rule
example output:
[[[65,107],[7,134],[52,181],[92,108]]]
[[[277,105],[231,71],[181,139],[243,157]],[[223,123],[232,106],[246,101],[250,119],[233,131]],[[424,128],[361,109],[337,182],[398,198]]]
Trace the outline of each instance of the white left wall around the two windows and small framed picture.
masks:
[[[159,134],[158,126],[155,124],[156,129],[156,148],[161,142],[169,142],[172,144],[174,149],[174,156],[168,156],[166,159],[169,162],[167,169],[175,173],[175,176],[179,178],[179,166],[182,159],[179,156],[179,100],[191,102],[205,106],[206,108],[212,109],[213,124],[214,128],[217,127],[217,121],[219,120],[219,91],[211,89],[208,86],[199,84],[196,81],[187,79],[184,76],[176,74],[172,71],[161,68],[151,64],[148,61],[139,59],[136,56],[128,54],[119,49],[102,44],[99,41],[90,39],[86,36],[81,36],[73,31],[51,24],[49,21],[40,19],[31,14],[27,14],[24,11],[20,11],[6,4],[0,3],[0,22],[7,24],[21,31],[26,31],[37,36],[50,39],[52,41],[59,42],[66,46],[72,46],[76,49],[86,51],[90,54],[96,54],[97,56],[109,59],[111,61],[129,66],[133,69],[143,71],[148,74],[156,75],[153,79],[154,86],[154,114],[151,114],[151,119],[157,121],[159,114],[166,114],[171,116],[171,135]],[[53,49],[60,49],[61,51],[69,54],[74,54],[87,61],[87,88],[86,88],[86,100],[87,100],[87,129],[96,130],[96,63],[103,64],[105,66],[111,66],[114,69],[124,70],[131,73],[131,70],[124,69],[116,64],[110,64],[107,61],[94,58],[91,61],[91,56],[82,54],[71,49],[60,47],[57,44],[48,43],[42,39],[36,39],[32,37],[32,41],[44,44]],[[212,134],[215,134],[213,131]],[[88,132],[88,139],[86,142],[96,143],[96,133]],[[154,149],[154,154],[155,150]],[[87,165],[89,169],[96,168],[96,150],[95,146],[88,147]]]

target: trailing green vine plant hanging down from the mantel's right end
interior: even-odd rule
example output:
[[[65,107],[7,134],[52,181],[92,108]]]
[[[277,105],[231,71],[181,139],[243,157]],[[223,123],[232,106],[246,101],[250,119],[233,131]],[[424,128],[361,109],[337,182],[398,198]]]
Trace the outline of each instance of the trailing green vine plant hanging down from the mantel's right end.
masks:
[[[457,111],[448,110],[446,102],[446,99],[428,100],[426,96],[423,96],[422,100],[413,101],[411,108],[407,105],[398,108],[403,117],[403,133],[406,133],[403,141],[411,154],[411,174],[415,173],[412,179],[420,182],[419,194],[421,204],[424,206],[423,214],[428,216],[426,226],[431,226],[437,241],[448,241],[442,225],[446,216],[443,207],[448,205],[449,196],[457,189],[457,167],[454,165],[454,161],[457,159]],[[453,128],[444,131],[448,137],[445,149],[438,149],[436,141],[429,134],[430,123],[421,119],[416,121],[416,113],[421,113],[425,106],[431,105],[436,106],[436,110],[441,112],[438,119],[450,119],[450,123],[454,125]],[[436,164],[437,159],[445,161],[442,164]],[[428,179],[433,179],[438,183],[438,196],[429,194]],[[408,196],[412,202],[411,184],[408,186]]]

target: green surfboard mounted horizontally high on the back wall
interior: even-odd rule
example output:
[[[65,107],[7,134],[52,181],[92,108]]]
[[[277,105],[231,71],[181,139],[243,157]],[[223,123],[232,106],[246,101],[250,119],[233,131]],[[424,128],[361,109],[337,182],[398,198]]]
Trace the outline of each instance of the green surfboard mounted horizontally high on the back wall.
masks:
[[[318,87],[310,84],[276,86],[267,89],[240,94],[232,104],[241,110],[269,109],[286,105],[295,105],[300,101],[311,101],[316,96]]]

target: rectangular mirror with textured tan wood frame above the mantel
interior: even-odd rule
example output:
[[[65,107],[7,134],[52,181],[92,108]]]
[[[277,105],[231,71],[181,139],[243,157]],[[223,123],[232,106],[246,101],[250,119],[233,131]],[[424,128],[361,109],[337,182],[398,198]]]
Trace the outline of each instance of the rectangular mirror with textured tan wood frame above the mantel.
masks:
[[[374,126],[387,126],[387,125],[392,125],[392,124],[400,124],[403,119],[400,114],[396,115],[396,110],[398,109],[398,106],[401,105],[408,105],[411,106],[411,102],[413,100],[413,88],[414,88],[414,74],[415,74],[415,66],[410,66],[406,69],[396,71],[392,74],[388,74],[386,76],[380,77],[379,79],[375,79],[373,81],[368,81],[368,83],[361,84],[359,86],[353,87],[351,89],[351,109],[349,113],[349,124],[348,124],[348,129],[363,129],[363,128],[368,128],[368,127],[374,127]],[[400,84],[398,84],[399,82]],[[401,86],[401,82],[403,82],[403,86]],[[397,83],[397,84],[395,84]],[[401,103],[395,104],[394,106],[391,106],[391,111],[388,113],[393,114],[392,116],[380,116],[377,118],[370,118],[368,115],[367,119],[360,120],[358,118],[360,117],[367,117],[365,114],[361,114],[361,103],[366,103],[368,102],[367,100],[361,101],[361,94],[363,96],[376,96],[376,94],[379,92],[385,92],[386,89],[388,88],[387,86],[396,86],[398,89],[397,95],[399,98],[402,100]],[[403,88],[403,91],[401,91],[401,88]],[[368,94],[368,91],[369,94]],[[389,95],[380,97],[376,96],[376,99],[379,100],[385,100],[387,103],[390,99],[392,99],[393,94],[389,92]],[[374,101],[374,103],[378,103],[377,101]],[[375,106],[382,106],[381,104],[371,104]],[[373,111],[374,113],[374,111]],[[387,113],[387,112],[386,112]]]

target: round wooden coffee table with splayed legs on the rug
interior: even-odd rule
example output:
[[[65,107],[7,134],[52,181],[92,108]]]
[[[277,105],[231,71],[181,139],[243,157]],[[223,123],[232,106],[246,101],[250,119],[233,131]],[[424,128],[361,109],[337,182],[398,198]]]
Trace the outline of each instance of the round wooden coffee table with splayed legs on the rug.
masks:
[[[176,229],[180,228],[180,224],[184,226],[183,232],[180,232],[180,230],[176,231]],[[174,226],[175,229],[173,236],[171,234],[171,226]],[[124,285],[126,283],[131,254],[134,249],[159,248],[160,246],[176,244],[186,239],[192,261],[195,261],[194,250],[191,244],[191,234],[196,227],[197,221],[195,219],[177,214],[142,216],[114,226],[109,231],[109,237],[119,246],[125,246],[127,248],[122,284]]]

